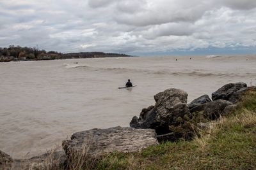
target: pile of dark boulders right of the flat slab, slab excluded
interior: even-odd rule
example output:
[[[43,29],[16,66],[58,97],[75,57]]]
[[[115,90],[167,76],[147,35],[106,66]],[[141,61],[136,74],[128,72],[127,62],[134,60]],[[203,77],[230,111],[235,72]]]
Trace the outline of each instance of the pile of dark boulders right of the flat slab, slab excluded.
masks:
[[[131,127],[155,129],[159,141],[190,139],[195,134],[193,123],[200,113],[207,122],[216,120],[236,108],[236,103],[248,90],[246,83],[229,83],[212,93],[212,100],[204,95],[187,104],[188,94],[179,89],[168,89],[154,96],[156,104],[143,109],[140,117],[133,117]]]

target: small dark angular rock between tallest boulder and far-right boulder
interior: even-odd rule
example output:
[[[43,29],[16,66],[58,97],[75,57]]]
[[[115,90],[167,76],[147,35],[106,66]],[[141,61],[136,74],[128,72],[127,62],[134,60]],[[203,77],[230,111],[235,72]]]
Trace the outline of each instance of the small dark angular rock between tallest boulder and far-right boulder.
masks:
[[[190,113],[204,110],[204,104],[210,103],[211,101],[212,100],[207,94],[196,98],[195,100],[191,101],[191,103],[188,104]]]

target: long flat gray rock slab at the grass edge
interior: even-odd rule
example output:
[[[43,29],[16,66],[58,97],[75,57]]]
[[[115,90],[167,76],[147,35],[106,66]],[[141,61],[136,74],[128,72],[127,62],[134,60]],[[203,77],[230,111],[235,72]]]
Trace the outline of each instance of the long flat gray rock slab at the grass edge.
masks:
[[[72,134],[71,139],[63,141],[67,158],[72,154],[102,155],[114,151],[137,152],[151,145],[158,145],[153,129],[134,129],[132,127],[112,127],[91,129]]]

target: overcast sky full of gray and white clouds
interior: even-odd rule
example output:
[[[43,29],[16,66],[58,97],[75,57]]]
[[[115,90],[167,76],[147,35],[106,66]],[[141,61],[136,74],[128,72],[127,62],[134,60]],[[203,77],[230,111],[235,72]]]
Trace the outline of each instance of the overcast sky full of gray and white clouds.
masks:
[[[256,53],[255,0],[1,0],[0,46],[133,55]]]

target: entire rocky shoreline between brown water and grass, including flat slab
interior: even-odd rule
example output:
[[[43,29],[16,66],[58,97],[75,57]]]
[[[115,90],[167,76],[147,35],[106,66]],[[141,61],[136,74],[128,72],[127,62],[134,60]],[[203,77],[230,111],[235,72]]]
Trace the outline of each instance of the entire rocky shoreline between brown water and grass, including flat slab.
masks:
[[[229,83],[211,98],[203,95],[187,103],[188,94],[180,89],[167,89],[154,96],[156,104],[143,108],[140,116],[134,116],[130,127],[91,129],[73,134],[70,140],[62,143],[61,152],[45,153],[27,160],[15,160],[0,151],[1,167],[14,169],[45,169],[45,160],[65,167],[74,156],[100,157],[112,152],[140,152],[163,141],[190,140],[198,129],[211,128],[211,122],[236,110],[237,103],[249,90],[246,83]]]

